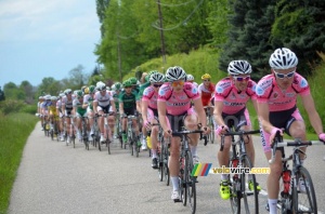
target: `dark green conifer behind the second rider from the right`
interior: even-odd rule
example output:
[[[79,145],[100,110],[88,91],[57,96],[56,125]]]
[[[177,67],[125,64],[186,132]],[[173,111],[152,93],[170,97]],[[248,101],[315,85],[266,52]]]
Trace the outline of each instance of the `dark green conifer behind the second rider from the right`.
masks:
[[[229,17],[229,39],[219,59],[221,70],[226,70],[231,61],[246,59],[252,66],[253,79],[270,72],[268,62],[273,46],[269,40],[275,3],[275,0],[231,2],[234,13]]]

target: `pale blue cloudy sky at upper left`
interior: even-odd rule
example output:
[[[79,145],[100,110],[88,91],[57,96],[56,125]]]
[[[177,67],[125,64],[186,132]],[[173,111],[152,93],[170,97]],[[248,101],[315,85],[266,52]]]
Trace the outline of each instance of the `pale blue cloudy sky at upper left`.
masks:
[[[0,0],[0,86],[91,73],[100,39],[95,0]]]

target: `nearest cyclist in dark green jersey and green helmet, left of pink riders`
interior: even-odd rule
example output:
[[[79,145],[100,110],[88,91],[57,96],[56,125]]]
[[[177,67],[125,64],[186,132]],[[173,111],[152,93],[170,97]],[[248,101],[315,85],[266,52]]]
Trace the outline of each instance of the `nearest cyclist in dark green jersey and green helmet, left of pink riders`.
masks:
[[[120,117],[122,118],[121,120],[121,131],[122,131],[122,142],[123,144],[127,143],[127,121],[128,118],[126,116],[134,116],[135,109],[136,109],[136,94],[134,91],[132,91],[132,84],[129,80],[123,81],[122,86],[125,91],[122,91],[119,96],[119,113]],[[133,126],[135,129],[135,134],[139,136],[139,128],[138,128],[138,122],[134,119],[133,121]],[[136,142],[138,146],[141,146],[140,141]]]

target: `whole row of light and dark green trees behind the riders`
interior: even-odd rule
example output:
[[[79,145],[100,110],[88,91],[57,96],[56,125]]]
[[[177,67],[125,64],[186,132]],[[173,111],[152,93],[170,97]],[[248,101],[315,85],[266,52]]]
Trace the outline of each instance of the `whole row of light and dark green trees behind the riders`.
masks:
[[[247,59],[256,79],[270,72],[277,48],[297,54],[302,75],[325,52],[324,0],[96,0],[96,12],[102,40],[95,54],[109,77],[161,57],[162,40],[166,55],[200,46],[220,53],[216,70]]]

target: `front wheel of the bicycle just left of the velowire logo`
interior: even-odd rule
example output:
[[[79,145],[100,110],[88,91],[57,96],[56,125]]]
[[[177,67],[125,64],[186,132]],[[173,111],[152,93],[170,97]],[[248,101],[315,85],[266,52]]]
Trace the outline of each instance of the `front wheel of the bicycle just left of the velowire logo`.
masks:
[[[186,151],[185,155],[185,176],[186,176],[186,193],[188,203],[192,210],[192,214],[196,211],[196,177],[191,176],[193,171],[193,158],[191,151]]]

